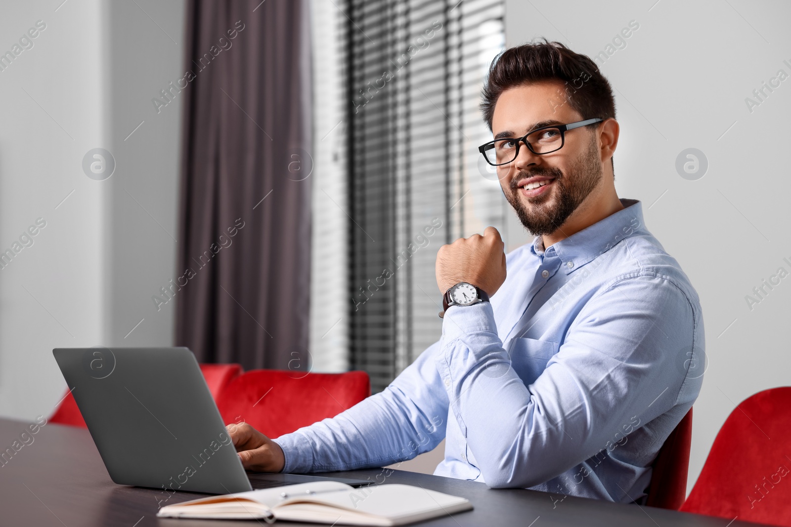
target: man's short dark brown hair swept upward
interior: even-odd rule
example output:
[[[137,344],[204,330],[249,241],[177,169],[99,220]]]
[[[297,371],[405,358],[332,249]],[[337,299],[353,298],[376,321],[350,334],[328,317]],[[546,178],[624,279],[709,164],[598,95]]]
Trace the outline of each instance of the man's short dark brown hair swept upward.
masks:
[[[498,55],[489,67],[483,86],[481,111],[492,129],[494,105],[508,88],[538,81],[564,81],[570,107],[582,119],[615,118],[615,99],[610,83],[587,55],[574,53],[559,42],[526,43]]]

